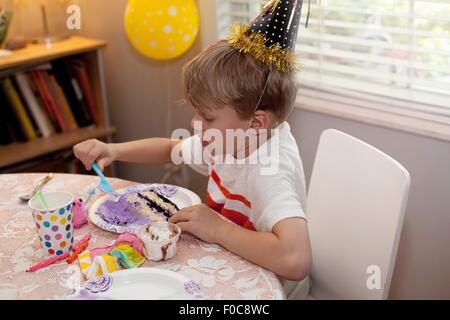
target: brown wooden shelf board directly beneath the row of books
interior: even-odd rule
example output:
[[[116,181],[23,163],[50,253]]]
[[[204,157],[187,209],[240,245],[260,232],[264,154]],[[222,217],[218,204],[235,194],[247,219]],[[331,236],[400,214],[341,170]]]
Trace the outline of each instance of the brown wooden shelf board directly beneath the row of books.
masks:
[[[0,168],[25,162],[52,152],[72,148],[73,145],[94,138],[104,138],[116,133],[115,128],[87,127],[61,133],[49,138],[38,138],[25,143],[0,146]]]

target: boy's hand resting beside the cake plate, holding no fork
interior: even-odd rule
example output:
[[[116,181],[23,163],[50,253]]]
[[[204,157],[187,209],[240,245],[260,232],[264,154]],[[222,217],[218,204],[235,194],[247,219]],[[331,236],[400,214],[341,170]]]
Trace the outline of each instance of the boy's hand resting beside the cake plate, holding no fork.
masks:
[[[181,231],[208,243],[217,243],[221,228],[228,223],[203,203],[181,209],[169,219],[169,222],[176,223]]]

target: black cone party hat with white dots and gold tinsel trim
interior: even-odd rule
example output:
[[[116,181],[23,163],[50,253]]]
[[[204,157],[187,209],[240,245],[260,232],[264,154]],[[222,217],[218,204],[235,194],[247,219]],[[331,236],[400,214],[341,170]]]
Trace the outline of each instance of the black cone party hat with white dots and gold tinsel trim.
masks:
[[[249,24],[232,26],[228,42],[282,72],[298,70],[295,44],[303,0],[271,0]],[[308,16],[309,18],[309,2]]]

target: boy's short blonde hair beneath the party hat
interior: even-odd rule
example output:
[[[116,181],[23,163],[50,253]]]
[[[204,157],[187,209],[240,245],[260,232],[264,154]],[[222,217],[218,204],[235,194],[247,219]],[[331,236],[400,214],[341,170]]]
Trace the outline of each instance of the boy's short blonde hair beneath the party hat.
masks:
[[[270,77],[267,81],[270,72]],[[208,47],[183,67],[185,99],[197,110],[232,107],[242,119],[258,109],[284,121],[298,91],[294,72],[281,72],[234,49],[226,40]]]

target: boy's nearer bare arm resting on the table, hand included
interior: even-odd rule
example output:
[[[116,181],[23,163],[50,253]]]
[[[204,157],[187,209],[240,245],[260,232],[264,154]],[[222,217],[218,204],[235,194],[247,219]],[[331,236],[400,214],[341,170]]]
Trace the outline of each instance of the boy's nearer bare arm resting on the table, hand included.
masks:
[[[200,204],[180,210],[169,221],[283,278],[301,280],[309,274],[311,251],[307,223],[302,218],[281,220],[272,232],[256,232],[229,223]]]

